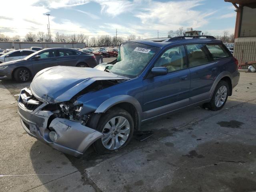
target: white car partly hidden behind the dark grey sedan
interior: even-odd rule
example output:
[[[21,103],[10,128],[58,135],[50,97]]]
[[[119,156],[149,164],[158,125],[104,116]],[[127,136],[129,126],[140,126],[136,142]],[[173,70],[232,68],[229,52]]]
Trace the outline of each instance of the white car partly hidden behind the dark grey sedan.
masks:
[[[4,63],[4,62],[8,62],[8,61],[14,61],[14,60],[19,60],[19,59],[23,59],[26,56],[34,53],[36,51],[33,50],[14,50],[14,51],[10,51],[7,52],[5,54],[2,54],[0,56],[0,63]]]

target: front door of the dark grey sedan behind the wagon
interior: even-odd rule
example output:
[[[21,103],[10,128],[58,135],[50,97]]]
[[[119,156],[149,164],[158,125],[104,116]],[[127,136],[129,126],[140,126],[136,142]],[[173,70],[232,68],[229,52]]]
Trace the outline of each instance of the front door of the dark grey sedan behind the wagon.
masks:
[[[40,58],[34,59],[33,62],[33,71],[34,73],[37,73],[38,71],[52,67],[52,66],[58,66],[58,50],[53,49],[53,50],[46,50],[44,52],[40,52],[38,55],[40,55]],[[33,58],[31,58],[33,60]]]

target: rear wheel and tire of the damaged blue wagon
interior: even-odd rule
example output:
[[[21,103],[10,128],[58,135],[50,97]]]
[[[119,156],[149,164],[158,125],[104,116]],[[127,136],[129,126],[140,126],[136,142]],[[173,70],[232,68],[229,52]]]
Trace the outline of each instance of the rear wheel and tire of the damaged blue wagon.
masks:
[[[212,100],[209,103],[204,104],[204,107],[208,107],[212,111],[222,109],[228,99],[229,90],[228,83],[226,81],[220,81],[214,90]]]

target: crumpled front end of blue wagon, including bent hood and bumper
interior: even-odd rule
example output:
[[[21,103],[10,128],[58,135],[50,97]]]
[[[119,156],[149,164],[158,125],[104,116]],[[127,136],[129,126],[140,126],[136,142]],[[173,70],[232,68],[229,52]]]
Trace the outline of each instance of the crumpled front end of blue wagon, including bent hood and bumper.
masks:
[[[78,98],[86,93],[118,84],[122,78],[118,77],[116,80],[113,77],[100,77],[78,80],[69,77],[67,80],[66,77],[66,81],[65,78],[56,78],[55,82],[52,78],[51,84],[47,84],[51,71],[45,73],[34,78],[30,85],[31,89],[24,88],[20,93],[18,114],[21,124],[30,136],[61,152],[79,157],[103,134],[88,127],[88,120],[95,109],[84,106]],[[64,76],[63,70],[58,77],[60,75]],[[54,84],[55,89],[53,89]]]

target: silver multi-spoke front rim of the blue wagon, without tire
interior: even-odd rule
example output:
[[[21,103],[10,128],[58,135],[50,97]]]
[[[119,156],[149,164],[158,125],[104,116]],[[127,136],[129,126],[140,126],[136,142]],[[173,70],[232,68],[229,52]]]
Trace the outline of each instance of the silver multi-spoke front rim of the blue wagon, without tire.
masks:
[[[130,123],[123,116],[116,116],[110,119],[103,128],[104,136],[102,144],[108,150],[120,148],[128,139],[130,134]]]

